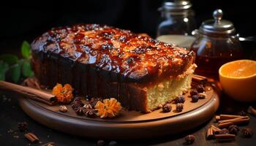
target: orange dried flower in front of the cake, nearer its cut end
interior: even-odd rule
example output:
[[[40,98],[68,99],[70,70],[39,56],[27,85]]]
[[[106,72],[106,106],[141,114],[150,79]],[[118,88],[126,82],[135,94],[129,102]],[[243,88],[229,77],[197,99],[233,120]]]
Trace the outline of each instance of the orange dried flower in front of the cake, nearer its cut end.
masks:
[[[121,104],[114,98],[104,99],[103,102],[97,102],[95,109],[100,118],[113,118],[116,117],[121,110]]]

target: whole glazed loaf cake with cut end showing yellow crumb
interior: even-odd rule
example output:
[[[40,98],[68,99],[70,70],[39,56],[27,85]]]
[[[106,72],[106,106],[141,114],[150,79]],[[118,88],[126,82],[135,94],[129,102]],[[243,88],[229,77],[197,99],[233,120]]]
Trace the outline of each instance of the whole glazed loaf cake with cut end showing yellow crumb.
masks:
[[[80,24],[52,28],[31,44],[39,82],[69,83],[90,97],[114,97],[151,112],[189,90],[195,53],[131,31]]]

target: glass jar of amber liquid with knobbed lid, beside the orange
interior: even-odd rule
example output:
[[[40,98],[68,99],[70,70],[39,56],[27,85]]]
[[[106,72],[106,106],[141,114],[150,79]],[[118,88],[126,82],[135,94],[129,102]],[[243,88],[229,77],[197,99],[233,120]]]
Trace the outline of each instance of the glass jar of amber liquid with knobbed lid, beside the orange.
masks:
[[[222,9],[213,13],[214,20],[206,20],[196,31],[191,50],[197,54],[197,74],[218,77],[222,64],[242,58],[242,48],[236,30],[228,20],[222,20]]]

